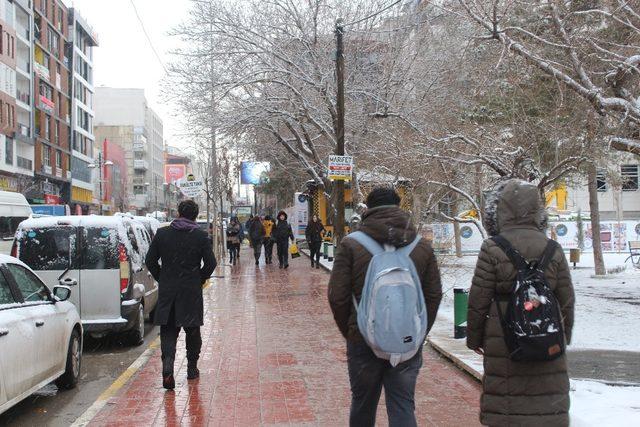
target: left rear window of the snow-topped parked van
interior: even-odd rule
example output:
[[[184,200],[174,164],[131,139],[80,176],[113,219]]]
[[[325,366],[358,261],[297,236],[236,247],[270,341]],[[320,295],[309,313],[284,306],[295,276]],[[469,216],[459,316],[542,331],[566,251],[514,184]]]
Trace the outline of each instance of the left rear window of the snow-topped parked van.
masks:
[[[77,268],[76,230],[72,227],[23,230],[20,260],[33,270]]]

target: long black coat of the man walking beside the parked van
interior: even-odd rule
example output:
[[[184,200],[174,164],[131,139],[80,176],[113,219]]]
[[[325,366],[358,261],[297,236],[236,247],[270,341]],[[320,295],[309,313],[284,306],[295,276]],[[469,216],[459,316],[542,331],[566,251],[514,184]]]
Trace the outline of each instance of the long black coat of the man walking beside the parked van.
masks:
[[[206,232],[197,226],[179,228],[158,229],[145,260],[159,285],[154,322],[166,325],[174,306],[175,326],[201,326],[202,285],[216,268],[216,258]]]

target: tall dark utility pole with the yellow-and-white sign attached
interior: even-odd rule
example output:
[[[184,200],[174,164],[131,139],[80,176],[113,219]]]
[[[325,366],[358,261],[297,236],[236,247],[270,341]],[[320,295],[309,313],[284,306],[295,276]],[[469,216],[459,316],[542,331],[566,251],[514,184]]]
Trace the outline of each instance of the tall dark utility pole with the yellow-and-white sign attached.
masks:
[[[344,156],[344,27],[342,19],[336,21],[336,155]],[[344,237],[344,181],[338,180],[335,183],[334,191],[336,215],[333,234],[335,243],[339,245]]]

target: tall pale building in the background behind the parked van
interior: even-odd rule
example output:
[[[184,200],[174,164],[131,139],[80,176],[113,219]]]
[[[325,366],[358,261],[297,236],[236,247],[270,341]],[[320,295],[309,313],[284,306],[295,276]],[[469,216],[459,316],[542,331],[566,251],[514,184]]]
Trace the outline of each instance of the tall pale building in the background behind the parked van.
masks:
[[[114,142],[125,152],[129,210],[165,210],[163,125],[144,90],[97,87],[95,106],[96,139]]]

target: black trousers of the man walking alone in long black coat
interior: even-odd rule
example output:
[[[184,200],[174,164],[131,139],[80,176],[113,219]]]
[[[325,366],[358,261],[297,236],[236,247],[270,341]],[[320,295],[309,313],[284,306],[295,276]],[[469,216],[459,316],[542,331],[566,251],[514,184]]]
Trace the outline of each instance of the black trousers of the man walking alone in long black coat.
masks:
[[[200,349],[202,348],[202,337],[200,336],[200,327],[181,328],[176,326],[175,308],[171,308],[169,320],[166,325],[160,326],[160,350],[162,352],[162,375],[173,375],[173,366],[176,361],[176,347],[178,344],[178,335],[180,329],[184,329],[187,344],[187,360],[190,364],[197,363],[200,358]]]

